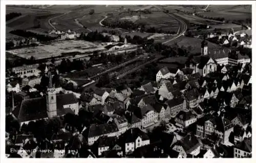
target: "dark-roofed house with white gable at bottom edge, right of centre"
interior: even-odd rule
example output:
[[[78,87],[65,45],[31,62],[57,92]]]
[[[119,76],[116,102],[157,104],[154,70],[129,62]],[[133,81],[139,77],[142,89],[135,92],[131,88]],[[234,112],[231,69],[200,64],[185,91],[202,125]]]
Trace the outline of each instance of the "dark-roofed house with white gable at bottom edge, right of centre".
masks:
[[[187,158],[189,154],[197,156],[200,153],[200,147],[201,144],[197,137],[193,134],[187,134],[174,145],[173,150],[180,152],[182,158]]]

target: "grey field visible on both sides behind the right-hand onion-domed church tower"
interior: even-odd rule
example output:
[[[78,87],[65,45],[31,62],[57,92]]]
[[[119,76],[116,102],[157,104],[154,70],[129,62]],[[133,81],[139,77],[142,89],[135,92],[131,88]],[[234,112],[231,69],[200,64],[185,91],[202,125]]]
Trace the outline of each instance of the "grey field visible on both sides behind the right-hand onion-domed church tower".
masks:
[[[180,37],[177,41],[175,41],[179,47],[183,46],[184,48],[188,48],[188,46],[191,47],[191,50],[189,51],[190,53],[201,53],[201,42],[202,39],[200,38],[192,38],[192,37]],[[167,45],[172,45],[172,43],[166,43]],[[208,41],[208,50],[211,49],[218,49],[220,48],[219,45],[215,43],[211,43]]]

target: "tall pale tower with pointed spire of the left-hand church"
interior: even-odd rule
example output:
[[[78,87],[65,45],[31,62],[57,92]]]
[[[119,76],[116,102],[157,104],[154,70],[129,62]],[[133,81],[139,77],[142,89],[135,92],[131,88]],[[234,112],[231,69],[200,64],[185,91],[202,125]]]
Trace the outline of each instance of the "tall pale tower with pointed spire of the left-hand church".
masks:
[[[49,85],[46,91],[47,114],[49,118],[57,116],[56,91],[52,85],[52,74],[48,72]]]

